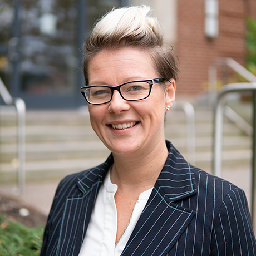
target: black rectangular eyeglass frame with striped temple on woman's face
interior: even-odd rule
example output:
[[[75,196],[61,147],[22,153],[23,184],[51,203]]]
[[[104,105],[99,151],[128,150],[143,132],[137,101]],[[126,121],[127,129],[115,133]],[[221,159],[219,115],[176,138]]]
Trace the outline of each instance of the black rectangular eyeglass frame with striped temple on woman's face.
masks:
[[[131,82],[126,82],[126,83],[122,83],[121,85],[117,85],[117,86],[110,86],[110,85],[90,85],[90,86],[83,86],[81,87],[81,93],[83,95],[83,97],[85,98],[85,100],[88,102],[88,104],[91,104],[91,105],[101,105],[101,104],[106,104],[106,103],[109,103],[111,100],[112,100],[112,97],[113,97],[113,93],[115,90],[117,90],[119,92],[119,94],[121,95],[122,99],[124,100],[127,100],[125,99],[124,96],[122,96],[122,93],[121,93],[121,90],[120,88],[124,85],[127,85],[128,83],[134,83],[134,82],[146,82],[149,84],[149,95],[147,95],[146,97],[142,98],[142,99],[139,99],[139,100],[144,100],[146,99],[147,97],[150,96],[150,93],[151,93],[151,89],[152,89],[152,86],[155,84],[155,83],[163,83],[164,81],[166,81],[165,78],[154,78],[154,79],[147,79],[147,80],[136,80],[136,81],[131,81]],[[111,97],[110,97],[110,100],[107,101],[107,102],[104,102],[104,103],[91,103],[90,101],[88,101],[86,99],[86,96],[85,96],[85,90],[86,89],[89,89],[89,88],[93,88],[93,87],[106,87],[106,88],[110,88],[111,90]],[[138,100],[127,100],[127,101],[138,101]]]

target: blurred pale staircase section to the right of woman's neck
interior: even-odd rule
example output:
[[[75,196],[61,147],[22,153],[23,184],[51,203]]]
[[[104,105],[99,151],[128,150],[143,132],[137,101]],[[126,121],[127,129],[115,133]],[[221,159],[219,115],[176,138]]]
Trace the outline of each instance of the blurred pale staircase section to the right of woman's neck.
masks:
[[[213,111],[195,107],[196,163],[195,166],[211,173],[213,159]],[[165,137],[185,156],[186,124],[182,111],[170,112]],[[251,137],[224,117],[223,125],[223,168],[250,164],[252,155]]]

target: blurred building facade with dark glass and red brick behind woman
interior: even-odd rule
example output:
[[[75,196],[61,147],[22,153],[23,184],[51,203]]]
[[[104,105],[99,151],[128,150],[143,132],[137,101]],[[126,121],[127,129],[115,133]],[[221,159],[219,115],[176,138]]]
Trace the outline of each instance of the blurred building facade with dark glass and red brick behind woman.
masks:
[[[208,90],[208,67],[247,53],[247,16],[255,0],[3,0],[0,3],[0,77],[28,107],[82,104],[82,44],[92,24],[113,6],[147,4],[179,57],[179,95]]]

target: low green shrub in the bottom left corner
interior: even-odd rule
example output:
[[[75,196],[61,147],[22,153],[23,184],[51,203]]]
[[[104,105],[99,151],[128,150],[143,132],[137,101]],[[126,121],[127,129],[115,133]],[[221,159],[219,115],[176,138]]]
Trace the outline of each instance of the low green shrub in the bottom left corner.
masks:
[[[5,221],[0,215],[0,255],[2,256],[35,256],[40,254],[43,227],[26,227],[25,225]]]

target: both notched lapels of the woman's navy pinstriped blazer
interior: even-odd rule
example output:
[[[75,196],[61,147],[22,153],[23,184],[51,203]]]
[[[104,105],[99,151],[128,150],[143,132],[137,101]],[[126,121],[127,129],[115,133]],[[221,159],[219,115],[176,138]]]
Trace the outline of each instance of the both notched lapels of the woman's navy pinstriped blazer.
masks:
[[[193,210],[175,204],[196,194],[194,174],[170,142],[166,144],[170,148],[168,159],[122,256],[165,255],[195,215]],[[76,184],[79,193],[66,199],[57,255],[79,254],[97,193],[112,163],[110,155],[105,163],[83,175]]]

